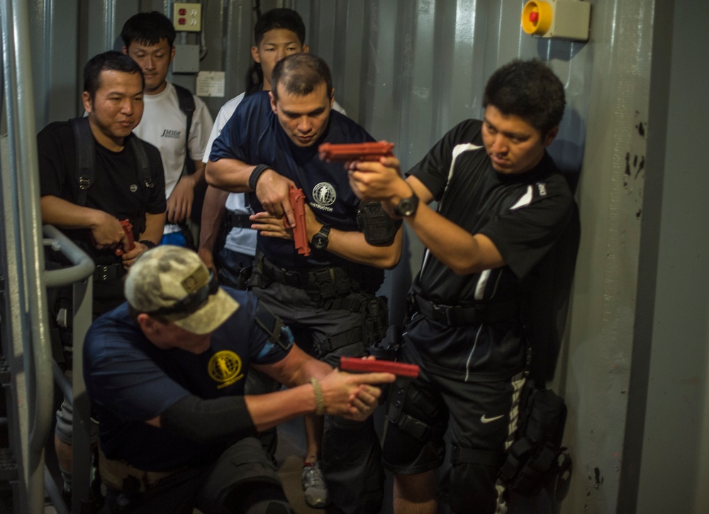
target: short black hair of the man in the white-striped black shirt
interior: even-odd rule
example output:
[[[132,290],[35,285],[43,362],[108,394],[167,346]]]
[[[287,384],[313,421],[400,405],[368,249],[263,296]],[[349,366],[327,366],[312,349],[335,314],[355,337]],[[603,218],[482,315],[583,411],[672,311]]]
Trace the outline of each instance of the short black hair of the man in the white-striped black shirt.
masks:
[[[488,105],[504,115],[519,116],[545,137],[564,116],[564,84],[539,59],[515,59],[488,80],[483,107]]]

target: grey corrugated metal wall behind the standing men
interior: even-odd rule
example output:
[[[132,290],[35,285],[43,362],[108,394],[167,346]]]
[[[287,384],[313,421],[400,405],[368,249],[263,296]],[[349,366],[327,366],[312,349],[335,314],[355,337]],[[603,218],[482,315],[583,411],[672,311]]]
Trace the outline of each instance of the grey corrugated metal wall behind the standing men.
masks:
[[[208,98],[213,114],[243,91],[252,63],[252,1],[202,2],[206,71],[226,72],[226,96]],[[396,143],[404,166],[412,165],[448,128],[481,115],[481,91],[498,65],[514,57],[541,57],[566,84],[568,113],[554,154],[564,168],[581,167],[590,80],[586,44],[532,39],[520,28],[520,0],[268,1],[295,8],[308,28],[311,52],[333,69],[335,96],[347,113],[374,137]],[[125,18],[155,9],[171,13],[160,0],[36,1],[33,28],[40,46],[38,125],[67,118],[80,108],[77,88],[88,57],[120,49]],[[169,14],[171,16],[171,14]],[[69,35],[69,37],[67,37]],[[198,36],[186,35],[197,43]],[[174,76],[194,85],[194,76]]]

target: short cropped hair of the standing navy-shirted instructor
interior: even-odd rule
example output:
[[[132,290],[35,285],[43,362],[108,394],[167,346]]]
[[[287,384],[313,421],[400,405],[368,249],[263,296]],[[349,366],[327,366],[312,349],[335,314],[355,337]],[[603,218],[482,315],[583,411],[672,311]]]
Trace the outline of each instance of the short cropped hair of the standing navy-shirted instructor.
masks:
[[[278,101],[278,86],[281,91],[297,96],[306,96],[325,83],[328,98],[333,96],[333,76],[330,68],[320,57],[313,54],[291,54],[273,67],[271,76],[272,93]]]

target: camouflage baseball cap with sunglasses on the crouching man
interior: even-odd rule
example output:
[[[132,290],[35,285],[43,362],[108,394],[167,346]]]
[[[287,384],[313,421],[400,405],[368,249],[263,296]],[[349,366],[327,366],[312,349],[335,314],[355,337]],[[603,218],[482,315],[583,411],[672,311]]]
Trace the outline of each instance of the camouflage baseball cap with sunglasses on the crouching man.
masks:
[[[139,312],[196,334],[216,330],[239,308],[194,251],[170,245],[135,261],[125,278],[125,299]]]

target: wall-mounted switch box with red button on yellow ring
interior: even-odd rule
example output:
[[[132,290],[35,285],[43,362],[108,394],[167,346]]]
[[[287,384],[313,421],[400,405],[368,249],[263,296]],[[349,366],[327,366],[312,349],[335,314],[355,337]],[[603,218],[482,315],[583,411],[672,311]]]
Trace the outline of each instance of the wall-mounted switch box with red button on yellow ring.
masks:
[[[591,4],[582,0],[530,0],[522,9],[522,29],[540,38],[587,41]]]

